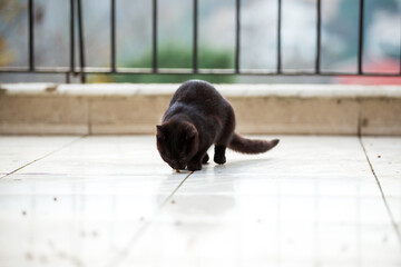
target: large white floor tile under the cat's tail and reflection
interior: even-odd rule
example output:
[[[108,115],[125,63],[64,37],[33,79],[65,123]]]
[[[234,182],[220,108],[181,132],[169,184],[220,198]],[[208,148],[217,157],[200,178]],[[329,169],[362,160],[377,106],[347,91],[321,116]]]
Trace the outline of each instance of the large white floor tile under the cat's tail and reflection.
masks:
[[[401,264],[358,138],[283,137],[281,145],[262,156],[229,152],[224,167],[192,175],[123,266]]]

